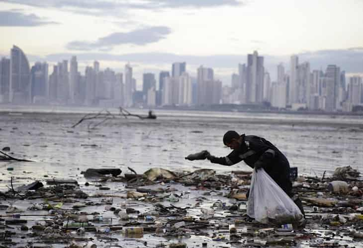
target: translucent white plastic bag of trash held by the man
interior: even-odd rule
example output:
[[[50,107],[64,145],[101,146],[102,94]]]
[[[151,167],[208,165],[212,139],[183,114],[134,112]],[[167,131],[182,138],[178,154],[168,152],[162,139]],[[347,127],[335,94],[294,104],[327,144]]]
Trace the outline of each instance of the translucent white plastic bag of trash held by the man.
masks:
[[[264,169],[252,174],[247,215],[261,223],[296,223],[303,215],[292,199]]]

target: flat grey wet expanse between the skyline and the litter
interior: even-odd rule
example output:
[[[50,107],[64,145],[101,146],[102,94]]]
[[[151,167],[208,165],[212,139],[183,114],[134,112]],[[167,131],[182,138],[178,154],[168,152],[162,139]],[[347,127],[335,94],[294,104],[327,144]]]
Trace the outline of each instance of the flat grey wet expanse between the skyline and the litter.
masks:
[[[205,149],[214,156],[227,155],[230,150],[223,146],[222,137],[230,129],[270,140],[302,174],[322,176],[324,171],[330,174],[347,165],[363,171],[362,116],[157,110],[157,120],[117,117],[95,129],[88,128],[95,120],[71,127],[85,113],[100,110],[0,106],[0,111],[12,112],[0,115],[0,148],[9,146],[12,156],[36,161],[0,162],[0,190],[9,176],[17,177],[20,184],[44,175],[72,178],[87,168],[114,167],[126,172],[129,166],[138,173],[151,167],[250,170],[243,162],[225,167],[207,160],[184,160],[187,154]],[[110,111],[117,114],[117,109]],[[147,110],[130,111],[147,114]],[[92,144],[96,146],[87,146]],[[6,171],[7,167],[14,170]]]

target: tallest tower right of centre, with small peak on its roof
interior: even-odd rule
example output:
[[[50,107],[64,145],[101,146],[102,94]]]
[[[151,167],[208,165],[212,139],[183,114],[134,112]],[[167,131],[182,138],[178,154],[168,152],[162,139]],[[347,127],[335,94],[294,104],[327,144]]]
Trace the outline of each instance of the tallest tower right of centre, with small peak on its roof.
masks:
[[[258,56],[257,51],[247,56],[247,103],[262,103],[264,96],[264,57]]]

